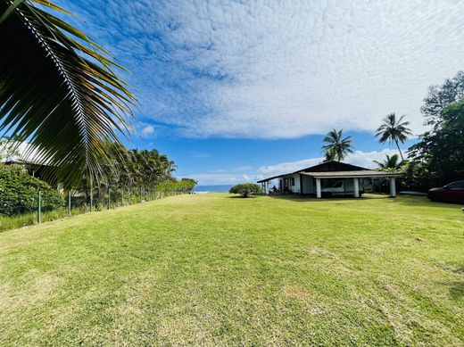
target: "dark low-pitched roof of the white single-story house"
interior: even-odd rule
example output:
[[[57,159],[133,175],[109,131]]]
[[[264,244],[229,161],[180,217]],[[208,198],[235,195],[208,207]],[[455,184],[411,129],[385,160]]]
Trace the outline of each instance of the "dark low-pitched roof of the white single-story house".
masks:
[[[303,174],[313,178],[385,178],[400,176],[400,174],[394,172],[366,169],[360,166],[348,164],[346,162],[325,161],[309,168],[299,169],[294,172],[273,176],[271,178],[264,178],[259,180],[258,183],[267,182],[274,178],[280,178],[294,174]]]

